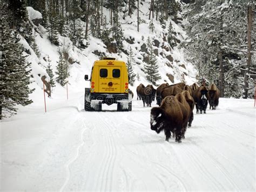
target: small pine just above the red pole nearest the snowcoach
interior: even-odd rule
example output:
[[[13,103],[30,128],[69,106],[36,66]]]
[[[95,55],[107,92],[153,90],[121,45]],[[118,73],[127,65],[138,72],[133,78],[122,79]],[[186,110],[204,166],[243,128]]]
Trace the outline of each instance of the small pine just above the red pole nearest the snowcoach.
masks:
[[[56,81],[61,85],[65,86],[66,83],[68,83],[68,77],[69,77],[69,72],[68,72],[68,62],[65,61],[63,53],[59,52],[59,61],[57,62],[58,65],[56,67],[57,72],[56,72]]]

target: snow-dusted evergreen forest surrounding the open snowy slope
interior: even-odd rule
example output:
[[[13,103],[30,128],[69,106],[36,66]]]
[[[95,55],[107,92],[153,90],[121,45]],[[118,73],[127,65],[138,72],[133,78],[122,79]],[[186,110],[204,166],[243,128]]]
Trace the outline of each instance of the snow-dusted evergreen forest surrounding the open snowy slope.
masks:
[[[31,63],[28,48],[20,44],[24,38],[38,58],[41,52],[35,41],[36,34],[46,30],[51,44],[60,46],[60,37],[69,38],[72,46],[83,51],[89,48],[89,38],[103,42],[108,53],[130,56],[128,64],[136,52],[124,47],[124,27],[135,23],[137,32],[140,25],[148,24],[150,32],[160,23],[169,52],[182,49],[187,62],[198,71],[196,80],[207,85],[214,82],[220,89],[221,97],[253,98],[256,79],[255,62],[255,5],[252,0],[176,1],[176,0],[2,0],[1,3],[1,82],[0,117],[15,114],[17,104],[32,103],[29,95]],[[142,7],[147,7],[143,19]],[[28,7],[39,11],[42,19],[29,19]],[[131,20],[136,16],[136,20]],[[144,14],[145,16],[145,14]],[[134,18],[134,17],[133,17]],[[186,37],[183,40],[173,30],[173,23],[181,26]],[[151,44],[158,39],[144,39],[149,48],[142,70],[147,80],[157,85],[158,74],[156,53]],[[151,42],[150,42],[151,41]],[[155,45],[155,44],[154,44]],[[96,52],[99,58],[106,52]],[[133,56],[132,56],[133,55]],[[166,55],[164,55],[166,56]],[[49,58],[48,58],[49,59]],[[45,58],[47,60],[47,58]],[[46,72],[50,85],[65,86],[69,76],[70,63],[66,62],[65,52],[60,53],[56,78],[49,64]],[[145,64],[145,65],[146,65]],[[38,64],[39,65],[39,64]],[[133,65],[137,65],[134,63]],[[128,66],[131,84],[139,79],[137,71]],[[153,70],[154,69],[154,70]]]

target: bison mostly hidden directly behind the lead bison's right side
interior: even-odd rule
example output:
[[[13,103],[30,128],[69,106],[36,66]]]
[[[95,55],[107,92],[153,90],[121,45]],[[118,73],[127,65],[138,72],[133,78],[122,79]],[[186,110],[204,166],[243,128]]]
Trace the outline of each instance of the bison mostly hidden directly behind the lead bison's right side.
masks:
[[[182,93],[178,93],[175,97],[185,107],[185,110],[183,111],[184,122],[181,130],[182,138],[185,138],[185,132],[187,130],[188,118],[190,117],[191,109],[190,105],[186,101],[185,96]]]

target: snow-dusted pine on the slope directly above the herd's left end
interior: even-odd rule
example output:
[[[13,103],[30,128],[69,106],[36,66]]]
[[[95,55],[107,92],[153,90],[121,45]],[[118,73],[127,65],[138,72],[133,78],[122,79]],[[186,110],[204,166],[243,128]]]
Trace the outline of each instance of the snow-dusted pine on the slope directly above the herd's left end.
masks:
[[[147,80],[151,81],[153,84],[156,84],[156,82],[161,79],[161,76],[158,73],[157,58],[154,54],[153,46],[149,38],[147,38],[147,47],[149,50],[149,61],[147,61],[146,65],[144,65],[144,69],[147,74]]]

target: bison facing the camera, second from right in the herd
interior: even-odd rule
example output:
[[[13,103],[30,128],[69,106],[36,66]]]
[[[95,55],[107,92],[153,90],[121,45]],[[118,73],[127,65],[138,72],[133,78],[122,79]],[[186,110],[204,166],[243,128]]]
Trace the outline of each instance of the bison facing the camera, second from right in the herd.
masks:
[[[206,86],[200,86],[198,89],[196,89],[193,93],[194,102],[196,104],[197,113],[206,113],[206,108],[208,104],[208,98],[207,98],[208,89]]]

